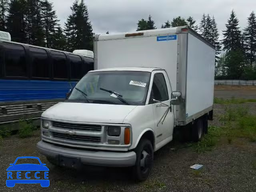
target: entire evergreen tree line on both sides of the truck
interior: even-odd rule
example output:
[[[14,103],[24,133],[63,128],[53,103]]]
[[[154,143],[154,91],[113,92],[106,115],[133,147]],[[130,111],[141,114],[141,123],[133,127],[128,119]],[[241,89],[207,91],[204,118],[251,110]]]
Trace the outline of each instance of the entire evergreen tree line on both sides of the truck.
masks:
[[[0,0],[0,30],[10,32],[12,41],[72,52],[93,50],[93,31],[84,0],[75,0],[64,28],[49,0]],[[256,80],[256,16],[248,17],[246,28],[239,27],[234,10],[219,39],[214,16],[203,14],[198,22],[192,16],[167,20],[161,28],[190,26],[216,48],[216,79]],[[156,29],[149,15],[137,23],[137,31]],[[109,34],[107,31],[106,34]]]

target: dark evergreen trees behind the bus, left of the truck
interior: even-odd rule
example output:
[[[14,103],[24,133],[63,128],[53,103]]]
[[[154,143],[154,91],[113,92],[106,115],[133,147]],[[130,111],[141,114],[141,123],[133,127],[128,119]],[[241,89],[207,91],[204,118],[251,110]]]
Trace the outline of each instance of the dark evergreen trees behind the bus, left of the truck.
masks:
[[[64,29],[49,0],[0,0],[0,30],[12,41],[58,50],[92,50],[92,24],[84,0],[75,0]]]

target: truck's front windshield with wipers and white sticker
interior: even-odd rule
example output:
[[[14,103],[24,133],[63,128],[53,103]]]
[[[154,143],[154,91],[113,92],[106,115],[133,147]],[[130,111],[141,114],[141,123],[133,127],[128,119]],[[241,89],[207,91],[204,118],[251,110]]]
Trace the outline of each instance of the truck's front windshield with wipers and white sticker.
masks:
[[[90,72],[78,82],[67,101],[144,105],[149,80],[150,72]]]

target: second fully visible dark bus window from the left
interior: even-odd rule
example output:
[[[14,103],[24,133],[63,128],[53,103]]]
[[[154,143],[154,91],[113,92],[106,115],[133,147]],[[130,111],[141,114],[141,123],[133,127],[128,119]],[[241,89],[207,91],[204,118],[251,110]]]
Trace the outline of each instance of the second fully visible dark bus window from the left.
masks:
[[[30,47],[32,77],[49,78],[49,62],[46,50]]]

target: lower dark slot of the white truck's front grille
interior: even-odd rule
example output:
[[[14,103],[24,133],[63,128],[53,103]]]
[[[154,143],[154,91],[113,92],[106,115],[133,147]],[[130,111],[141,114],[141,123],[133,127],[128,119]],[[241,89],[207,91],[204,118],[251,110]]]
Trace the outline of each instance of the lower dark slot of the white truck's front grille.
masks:
[[[82,136],[82,135],[69,135],[64,133],[51,132],[52,136],[56,138],[68,139],[72,141],[86,141],[86,142],[100,142],[100,137]]]

